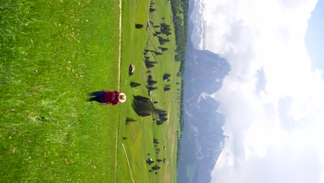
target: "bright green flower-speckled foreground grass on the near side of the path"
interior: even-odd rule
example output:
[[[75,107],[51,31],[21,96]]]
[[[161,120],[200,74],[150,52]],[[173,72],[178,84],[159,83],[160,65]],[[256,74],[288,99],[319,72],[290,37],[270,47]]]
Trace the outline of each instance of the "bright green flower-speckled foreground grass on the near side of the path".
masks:
[[[0,2],[0,182],[114,182],[118,1]]]

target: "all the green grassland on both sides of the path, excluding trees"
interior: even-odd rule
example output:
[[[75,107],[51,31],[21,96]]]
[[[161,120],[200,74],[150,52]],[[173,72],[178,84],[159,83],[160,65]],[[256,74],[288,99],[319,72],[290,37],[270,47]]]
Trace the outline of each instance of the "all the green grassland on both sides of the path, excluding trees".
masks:
[[[131,182],[121,143],[134,180],[176,182],[180,78],[174,33],[163,46],[168,51],[151,55],[159,64],[150,69],[159,87],[152,98],[168,112],[168,123],[156,125],[132,109],[133,95],[147,96],[143,51],[161,46],[154,26],[145,30],[147,18],[172,25],[170,4],[154,2],[149,14],[149,0],[123,0],[120,91],[128,98],[109,107],[88,103],[87,94],[118,89],[119,1],[0,2],[0,182]],[[133,76],[129,64],[136,65]],[[172,74],[166,94],[163,73]],[[129,87],[132,81],[142,85]],[[137,121],[126,125],[126,117]],[[167,150],[156,154],[153,138]],[[145,164],[147,153],[167,159],[156,175]]]

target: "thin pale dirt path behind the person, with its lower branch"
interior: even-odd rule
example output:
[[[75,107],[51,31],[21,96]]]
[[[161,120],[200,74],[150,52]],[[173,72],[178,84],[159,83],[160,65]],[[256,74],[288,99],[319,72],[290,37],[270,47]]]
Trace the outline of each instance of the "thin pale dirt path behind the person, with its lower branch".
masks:
[[[118,55],[118,91],[120,90],[120,59],[121,59],[121,28],[122,26],[122,0],[119,0],[119,55]],[[119,128],[119,127],[118,127]],[[116,130],[116,153],[115,153],[115,182],[117,182],[117,149],[118,149],[118,128]],[[122,143],[123,145],[123,143]],[[124,147],[124,145],[123,145]],[[125,148],[124,148],[125,150]],[[126,153],[126,151],[125,151]],[[128,162],[128,159],[127,159]],[[130,170],[130,169],[129,169]],[[132,173],[131,173],[132,174]],[[133,179],[133,177],[132,177]],[[134,181],[133,181],[134,182]]]

